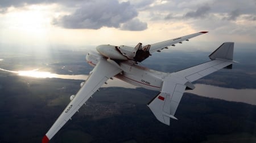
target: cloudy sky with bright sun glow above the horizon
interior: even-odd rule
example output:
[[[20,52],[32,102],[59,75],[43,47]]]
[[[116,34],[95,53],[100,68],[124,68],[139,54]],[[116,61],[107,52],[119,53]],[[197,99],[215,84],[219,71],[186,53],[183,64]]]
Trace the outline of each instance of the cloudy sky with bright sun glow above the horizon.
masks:
[[[147,45],[200,31],[185,46],[256,45],[256,0],[3,0],[0,21],[0,47]]]

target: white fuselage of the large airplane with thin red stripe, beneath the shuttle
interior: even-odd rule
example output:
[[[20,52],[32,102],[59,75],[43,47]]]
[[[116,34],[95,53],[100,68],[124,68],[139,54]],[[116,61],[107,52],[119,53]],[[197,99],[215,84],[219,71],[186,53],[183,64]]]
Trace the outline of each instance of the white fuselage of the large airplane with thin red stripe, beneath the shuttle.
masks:
[[[111,48],[112,47],[109,46],[108,48],[107,46],[106,50],[113,52],[115,49]],[[117,56],[117,53],[115,53],[115,56]],[[106,57],[102,56],[100,53],[97,53],[95,51],[90,51],[90,53],[86,55],[86,62],[89,63],[90,66],[94,67],[96,66],[100,58]],[[109,61],[114,62],[114,60],[110,59]],[[117,63],[114,62],[113,64]],[[142,88],[150,90],[159,91],[163,81],[162,79],[164,78],[164,76],[168,75],[168,73],[159,72],[151,70],[146,67],[139,66],[138,64],[135,64],[133,60],[123,60],[123,62],[118,62],[117,66],[122,69],[122,72],[114,77],[117,77],[118,79],[125,81],[126,83],[132,84],[134,86],[140,86]]]

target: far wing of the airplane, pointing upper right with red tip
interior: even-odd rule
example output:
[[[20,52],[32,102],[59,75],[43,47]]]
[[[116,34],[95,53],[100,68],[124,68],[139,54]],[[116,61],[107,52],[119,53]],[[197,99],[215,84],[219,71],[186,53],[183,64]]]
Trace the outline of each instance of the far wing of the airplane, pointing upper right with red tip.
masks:
[[[174,39],[171,39],[171,40],[158,42],[156,44],[151,44],[149,52],[150,52],[150,54],[152,54],[155,51],[162,50],[162,49],[164,49],[165,47],[168,47],[168,46],[175,46],[175,44],[177,44],[177,43],[182,43],[182,41],[188,41],[190,38],[199,36],[199,35],[204,34],[204,33],[207,33],[207,32],[193,33],[193,34],[189,34],[189,35],[186,35],[186,36],[177,37],[177,38],[174,38]]]

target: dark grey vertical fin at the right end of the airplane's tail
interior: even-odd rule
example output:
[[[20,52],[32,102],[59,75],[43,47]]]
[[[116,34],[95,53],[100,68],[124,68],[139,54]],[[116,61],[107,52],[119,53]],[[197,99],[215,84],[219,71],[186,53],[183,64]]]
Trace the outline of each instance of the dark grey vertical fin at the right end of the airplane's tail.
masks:
[[[226,59],[233,60],[234,42],[224,42],[218,49],[209,55],[211,60]]]

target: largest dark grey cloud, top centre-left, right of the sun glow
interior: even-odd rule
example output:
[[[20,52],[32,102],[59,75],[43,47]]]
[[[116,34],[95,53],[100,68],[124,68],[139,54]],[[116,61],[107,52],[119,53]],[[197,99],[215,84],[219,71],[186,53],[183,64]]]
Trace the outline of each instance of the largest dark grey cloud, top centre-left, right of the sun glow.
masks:
[[[137,15],[137,10],[129,2],[92,1],[84,3],[71,15],[55,19],[53,23],[73,29],[119,28],[120,24],[126,23]]]

